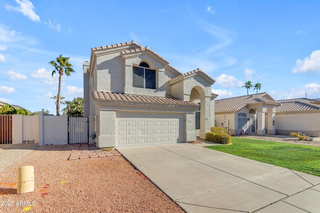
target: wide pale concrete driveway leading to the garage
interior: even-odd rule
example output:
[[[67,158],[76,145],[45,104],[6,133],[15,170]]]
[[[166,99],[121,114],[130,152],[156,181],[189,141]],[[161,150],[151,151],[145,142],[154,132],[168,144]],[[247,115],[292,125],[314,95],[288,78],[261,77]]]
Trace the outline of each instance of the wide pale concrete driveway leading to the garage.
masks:
[[[319,213],[320,177],[181,143],[117,150],[187,213]]]

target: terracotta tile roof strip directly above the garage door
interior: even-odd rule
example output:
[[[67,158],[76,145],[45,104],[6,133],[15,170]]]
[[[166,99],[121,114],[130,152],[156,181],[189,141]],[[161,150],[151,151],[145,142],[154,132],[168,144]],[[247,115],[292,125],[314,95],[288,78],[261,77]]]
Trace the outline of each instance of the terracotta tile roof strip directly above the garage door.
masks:
[[[103,100],[117,103],[141,103],[166,106],[199,107],[199,105],[196,103],[190,101],[182,101],[177,99],[176,97],[173,97],[172,95],[166,95],[164,98],[161,98],[150,96],[126,95],[123,93],[92,91],[92,97],[94,100]]]

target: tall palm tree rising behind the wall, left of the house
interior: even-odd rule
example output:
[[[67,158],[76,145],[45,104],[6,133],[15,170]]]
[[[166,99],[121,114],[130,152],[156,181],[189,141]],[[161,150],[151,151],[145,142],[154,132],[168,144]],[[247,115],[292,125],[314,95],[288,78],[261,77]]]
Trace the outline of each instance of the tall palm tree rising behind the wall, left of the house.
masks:
[[[66,76],[71,75],[71,73],[75,72],[72,68],[72,64],[69,63],[69,57],[62,57],[62,54],[59,55],[59,57],[55,58],[56,61],[50,61],[49,64],[51,64],[54,67],[54,70],[52,71],[52,77],[53,74],[55,74],[55,71],[59,73],[59,88],[58,88],[58,94],[57,94],[57,100],[56,100],[56,115],[60,115],[60,91],[61,91],[61,77],[63,75],[63,72]]]

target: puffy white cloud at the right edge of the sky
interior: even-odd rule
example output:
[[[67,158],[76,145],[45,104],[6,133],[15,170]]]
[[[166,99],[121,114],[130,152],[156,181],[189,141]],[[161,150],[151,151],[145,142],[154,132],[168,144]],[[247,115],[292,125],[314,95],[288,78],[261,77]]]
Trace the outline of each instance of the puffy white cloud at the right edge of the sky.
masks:
[[[320,50],[314,50],[310,57],[305,57],[304,60],[297,59],[292,73],[315,72],[320,73]]]

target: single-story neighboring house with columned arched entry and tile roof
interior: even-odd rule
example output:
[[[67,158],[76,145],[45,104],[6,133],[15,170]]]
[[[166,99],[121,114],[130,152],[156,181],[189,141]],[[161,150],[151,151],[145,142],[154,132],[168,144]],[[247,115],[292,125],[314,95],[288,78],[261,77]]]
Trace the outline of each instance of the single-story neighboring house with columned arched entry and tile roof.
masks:
[[[267,93],[216,100],[215,126],[224,127],[231,135],[274,135],[277,105],[278,102]]]

